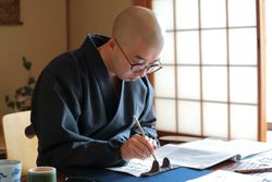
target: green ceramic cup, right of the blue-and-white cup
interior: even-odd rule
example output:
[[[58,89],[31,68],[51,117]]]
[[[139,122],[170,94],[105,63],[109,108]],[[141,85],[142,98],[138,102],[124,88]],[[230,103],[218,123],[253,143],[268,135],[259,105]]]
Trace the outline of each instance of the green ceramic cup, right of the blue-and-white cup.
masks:
[[[57,182],[57,172],[53,167],[36,167],[28,170],[28,182]]]

